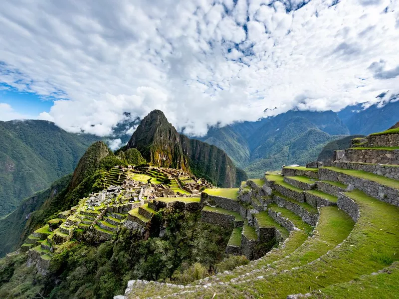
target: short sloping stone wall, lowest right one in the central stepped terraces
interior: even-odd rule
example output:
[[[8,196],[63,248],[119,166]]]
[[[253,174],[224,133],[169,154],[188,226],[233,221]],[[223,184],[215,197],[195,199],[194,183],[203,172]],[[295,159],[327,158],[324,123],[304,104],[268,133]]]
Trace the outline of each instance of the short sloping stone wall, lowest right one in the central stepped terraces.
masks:
[[[273,192],[273,202],[280,207],[284,207],[296,215],[311,226],[315,226],[319,219],[318,211],[315,207],[311,206],[306,202],[298,202],[289,197],[286,197],[278,192]]]

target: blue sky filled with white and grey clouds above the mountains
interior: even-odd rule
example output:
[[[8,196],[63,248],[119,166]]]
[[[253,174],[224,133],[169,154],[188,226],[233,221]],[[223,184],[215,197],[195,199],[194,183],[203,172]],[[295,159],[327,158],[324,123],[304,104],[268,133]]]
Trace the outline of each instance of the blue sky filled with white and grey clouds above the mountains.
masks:
[[[0,120],[75,133],[160,109],[202,136],[399,93],[399,0],[2,0],[0,28]]]

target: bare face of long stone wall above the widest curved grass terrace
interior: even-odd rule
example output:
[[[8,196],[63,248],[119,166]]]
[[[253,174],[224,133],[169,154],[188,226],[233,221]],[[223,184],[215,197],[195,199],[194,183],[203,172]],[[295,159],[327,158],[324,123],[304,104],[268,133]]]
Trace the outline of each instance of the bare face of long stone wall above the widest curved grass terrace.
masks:
[[[320,168],[319,175],[322,180],[338,181],[346,185],[352,184],[371,197],[399,206],[398,189],[382,185],[375,181],[336,172],[328,168]]]

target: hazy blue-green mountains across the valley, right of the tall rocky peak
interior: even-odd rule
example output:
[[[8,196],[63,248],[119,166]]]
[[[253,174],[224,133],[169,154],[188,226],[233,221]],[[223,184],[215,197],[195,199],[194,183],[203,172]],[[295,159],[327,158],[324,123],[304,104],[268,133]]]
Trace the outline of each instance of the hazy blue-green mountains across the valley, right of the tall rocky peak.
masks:
[[[335,112],[292,110],[257,122],[211,128],[200,140],[223,149],[250,177],[258,177],[283,164],[314,160],[324,145],[348,134]]]

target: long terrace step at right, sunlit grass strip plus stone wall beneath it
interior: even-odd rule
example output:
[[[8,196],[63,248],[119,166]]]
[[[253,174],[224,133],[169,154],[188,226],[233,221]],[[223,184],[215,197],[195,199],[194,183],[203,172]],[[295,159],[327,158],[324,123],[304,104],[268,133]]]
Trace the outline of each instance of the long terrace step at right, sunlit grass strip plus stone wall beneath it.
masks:
[[[321,180],[337,181],[355,188],[367,195],[399,206],[399,181],[382,175],[337,167],[319,169]]]

